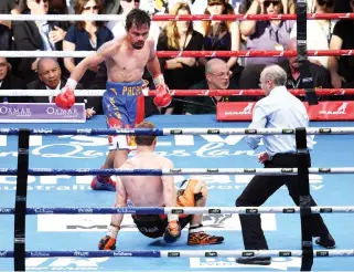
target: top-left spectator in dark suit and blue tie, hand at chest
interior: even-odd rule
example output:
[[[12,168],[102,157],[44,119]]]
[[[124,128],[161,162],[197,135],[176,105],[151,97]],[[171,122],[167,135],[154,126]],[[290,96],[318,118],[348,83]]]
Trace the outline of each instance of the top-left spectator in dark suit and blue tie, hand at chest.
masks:
[[[49,0],[28,0],[30,14],[43,15],[49,12]],[[47,21],[15,21],[13,36],[15,50],[20,51],[60,51],[66,34],[64,22]],[[29,83],[36,79],[39,59],[22,57],[18,72]]]

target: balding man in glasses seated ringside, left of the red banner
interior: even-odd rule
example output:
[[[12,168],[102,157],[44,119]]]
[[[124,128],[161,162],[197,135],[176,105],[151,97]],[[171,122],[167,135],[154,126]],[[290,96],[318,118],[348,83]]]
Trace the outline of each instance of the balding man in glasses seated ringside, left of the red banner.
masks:
[[[193,85],[191,90],[227,90],[236,88],[236,85],[229,80],[233,73],[229,71],[226,62],[221,59],[212,59],[205,64],[205,80]],[[185,114],[215,114],[217,102],[228,101],[228,97],[222,96],[190,96],[186,103]],[[193,103],[199,103],[196,105]]]

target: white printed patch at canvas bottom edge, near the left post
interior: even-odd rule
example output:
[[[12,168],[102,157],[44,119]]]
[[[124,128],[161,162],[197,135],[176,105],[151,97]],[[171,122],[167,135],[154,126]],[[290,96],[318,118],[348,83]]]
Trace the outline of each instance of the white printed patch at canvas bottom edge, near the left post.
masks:
[[[97,271],[99,263],[108,260],[109,258],[29,258],[25,266],[29,271]]]

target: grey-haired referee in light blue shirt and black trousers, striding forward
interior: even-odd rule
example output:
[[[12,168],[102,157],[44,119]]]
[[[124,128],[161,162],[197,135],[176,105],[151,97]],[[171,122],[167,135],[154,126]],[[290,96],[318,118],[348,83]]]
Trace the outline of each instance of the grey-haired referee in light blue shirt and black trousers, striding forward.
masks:
[[[308,127],[309,117],[302,102],[290,94],[285,85],[287,74],[278,65],[267,66],[260,74],[260,85],[266,97],[257,102],[254,108],[253,122],[249,128],[297,128]],[[261,135],[246,136],[246,143],[256,149]],[[313,147],[313,137],[308,136],[308,148]],[[266,135],[262,137],[266,151],[258,155],[259,163],[266,168],[297,167],[297,147],[294,135]],[[310,154],[308,155],[311,164]],[[237,198],[237,207],[259,207],[286,185],[293,202],[299,206],[299,189],[297,176],[255,176],[243,193]],[[311,206],[317,206],[311,197]],[[261,229],[259,215],[239,215],[243,238],[246,250],[268,250],[268,244]],[[328,249],[335,248],[335,241],[330,234],[320,215],[311,217],[312,237],[319,237],[317,244]],[[238,258],[237,263],[269,265],[270,258]]]

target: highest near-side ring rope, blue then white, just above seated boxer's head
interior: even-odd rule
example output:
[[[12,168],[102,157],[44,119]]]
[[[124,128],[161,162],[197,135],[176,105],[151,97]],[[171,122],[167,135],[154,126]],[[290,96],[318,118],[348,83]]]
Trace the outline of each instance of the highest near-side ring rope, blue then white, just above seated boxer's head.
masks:
[[[19,135],[20,128],[0,128],[0,135]],[[308,135],[353,135],[354,127],[307,127]],[[296,135],[294,128],[31,128],[30,135]]]

